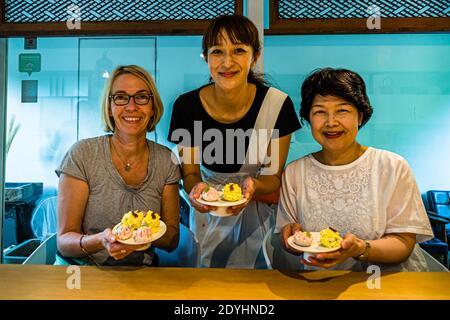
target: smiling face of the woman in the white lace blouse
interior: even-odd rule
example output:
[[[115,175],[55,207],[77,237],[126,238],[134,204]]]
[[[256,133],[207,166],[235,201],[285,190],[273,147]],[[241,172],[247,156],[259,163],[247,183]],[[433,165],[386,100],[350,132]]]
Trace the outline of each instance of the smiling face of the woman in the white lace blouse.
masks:
[[[309,120],[312,135],[324,151],[344,153],[357,145],[362,114],[350,102],[335,96],[316,95]]]

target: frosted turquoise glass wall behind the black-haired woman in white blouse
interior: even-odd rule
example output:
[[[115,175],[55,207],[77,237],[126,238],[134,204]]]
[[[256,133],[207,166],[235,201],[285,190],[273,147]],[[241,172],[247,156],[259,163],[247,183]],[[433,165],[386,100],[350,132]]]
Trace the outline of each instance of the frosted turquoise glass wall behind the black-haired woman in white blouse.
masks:
[[[312,70],[341,67],[361,74],[374,114],[363,144],[399,153],[422,192],[450,189],[450,35],[267,36],[265,70],[300,105],[300,85]],[[289,161],[318,150],[308,126]]]

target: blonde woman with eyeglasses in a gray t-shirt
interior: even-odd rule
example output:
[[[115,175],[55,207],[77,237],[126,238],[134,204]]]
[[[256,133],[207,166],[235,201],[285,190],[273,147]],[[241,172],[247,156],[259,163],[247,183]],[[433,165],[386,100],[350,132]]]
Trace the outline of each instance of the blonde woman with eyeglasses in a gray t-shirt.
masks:
[[[177,247],[179,165],[168,148],[146,138],[162,113],[147,71],[135,65],[113,71],[102,102],[104,130],[110,134],[78,141],[56,170],[60,264],[155,266],[155,247]],[[135,210],[157,212],[167,225],[142,251],[117,242],[111,231]]]

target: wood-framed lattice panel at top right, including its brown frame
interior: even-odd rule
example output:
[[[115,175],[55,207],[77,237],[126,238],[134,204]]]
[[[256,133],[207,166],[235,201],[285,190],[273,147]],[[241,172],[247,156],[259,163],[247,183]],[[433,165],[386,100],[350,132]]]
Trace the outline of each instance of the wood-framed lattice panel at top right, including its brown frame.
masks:
[[[270,14],[269,34],[450,30],[450,0],[274,0]]]

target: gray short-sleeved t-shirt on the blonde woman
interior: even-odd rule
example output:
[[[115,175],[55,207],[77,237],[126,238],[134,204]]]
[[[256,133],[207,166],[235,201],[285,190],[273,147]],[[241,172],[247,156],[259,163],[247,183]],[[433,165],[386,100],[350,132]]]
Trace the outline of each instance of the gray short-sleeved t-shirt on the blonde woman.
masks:
[[[113,228],[124,213],[132,210],[160,213],[164,185],[178,183],[180,166],[172,159],[165,146],[147,140],[150,150],[148,174],[142,184],[131,187],[120,176],[111,158],[111,135],[83,139],[75,143],[55,170],[85,181],[89,185],[89,198],[82,222],[82,232],[94,234]],[[93,254],[103,265],[151,265],[154,247],[135,251],[125,259],[116,261],[106,250]]]

